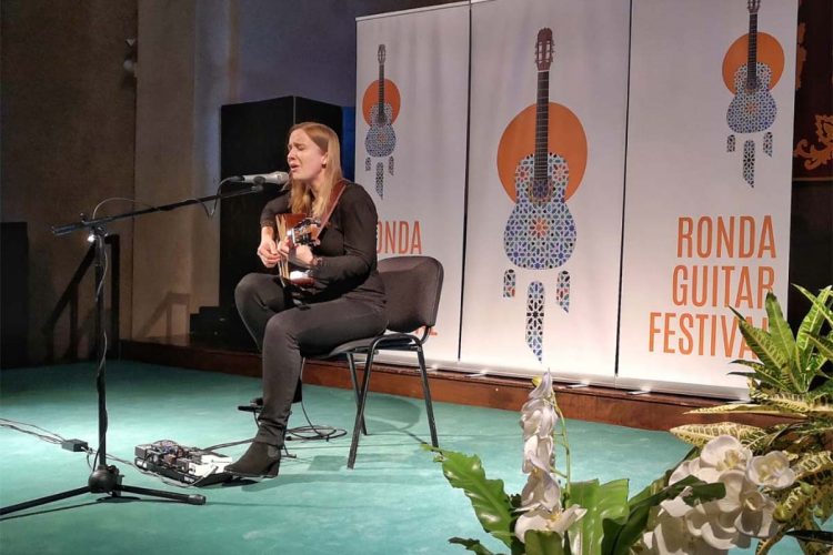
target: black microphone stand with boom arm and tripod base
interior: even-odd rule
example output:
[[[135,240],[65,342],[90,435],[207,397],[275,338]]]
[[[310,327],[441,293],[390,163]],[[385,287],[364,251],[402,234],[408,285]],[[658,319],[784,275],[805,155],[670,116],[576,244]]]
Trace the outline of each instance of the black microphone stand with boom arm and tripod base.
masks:
[[[224,181],[240,181],[240,178],[229,178]],[[222,186],[222,183],[220,183],[220,186]],[[181,493],[173,493],[173,492],[163,492],[161,490],[149,490],[147,487],[137,487],[137,486],[130,486],[124,485],[121,483],[122,475],[119,473],[119,470],[114,465],[108,466],[107,464],[107,384],[106,384],[106,374],[107,374],[107,332],[104,331],[104,301],[103,301],[103,290],[104,290],[104,269],[107,266],[107,254],[104,253],[104,238],[107,236],[107,230],[104,228],[104,224],[117,221],[117,220],[123,220],[126,218],[136,218],[139,215],[148,214],[151,212],[167,212],[171,210],[175,210],[181,206],[187,206],[189,204],[197,204],[197,203],[203,203],[208,201],[213,200],[221,200],[221,199],[229,199],[232,196],[240,196],[243,194],[250,194],[250,193],[258,193],[263,191],[263,181],[258,182],[255,179],[255,184],[248,188],[242,189],[239,191],[231,191],[224,194],[214,194],[211,196],[202,196],[200,199],[187,199],[180,202],[173,202],[171,204],[164,204],[162,206],[152,206],[144,210],[138,210],[134,212],[126,212],[122,214],[117,215],[110,215],[106,218],[99,218],[98,220],[87,220],[83,214],[81,214],[81,221],[76,223],[70,223],[67,225],[58,225],[52,226],[52,233],[56,236],[60,235],[67,235],[69,233],[72,233],[78,230],[82,229],[89,229],[90,230],[90,238],[92,240],[92,243],[94,244],[96,249],[96,352],[98,353],[98,360],[99,360],[99,369],[96,376],[96,387],[98,390],[98,397],[99,397],[99,411],[98,411],[98,417],[99,417],[99,448],[97,454],[97,461],[98,464],[96,465],[96,468],[92,471],[92,474],[90,474],[89,480],[87,481],[87,485],[83,487],[78,487],[74,490],[68,490],[66,492],[57,493],[53,495],[48,495],[46,497],[40,497],[37,500],[28,501],[24,503],[19,503],[17,505],[10,505],[8,507],[0,508],[0,515],[6,515],[9,513],[14,513],[17,511],[22,511],[26,508],[37,507],[39,505],[44,505],[47,503],[52,503],[53,501],[60,501],[66,500],[68,497],[74,497],[76,495],[82,495],[84,493],[104,493],[108,494],[109,497],[102,497],[100,501],[111,501],[111,500],[123,500],[121,496],[122,492],[128,493],[134,493],[140,495],[149,495],[153,497],[162,497],[165,500],[177,501],[181,503],[188,503],[190,505],[204,505],[205,504],[205,496],[193,494],[181,494]]]

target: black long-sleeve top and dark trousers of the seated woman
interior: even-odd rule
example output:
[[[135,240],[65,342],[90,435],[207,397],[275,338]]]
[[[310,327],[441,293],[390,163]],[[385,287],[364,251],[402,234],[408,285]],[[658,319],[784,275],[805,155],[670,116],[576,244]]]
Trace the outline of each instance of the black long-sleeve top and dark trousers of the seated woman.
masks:
[[[289,198],[269,202],[261,226],[289,212]],[[330,221],[312,248],[321,262],[303,290],[278,276],[253,273],[237,286],[238,311],[263,353],[263,410],[255,441],[282,445],[303,354],[384,330],[384,284],[377,271],[375,205],[361,185],[347,183]]]

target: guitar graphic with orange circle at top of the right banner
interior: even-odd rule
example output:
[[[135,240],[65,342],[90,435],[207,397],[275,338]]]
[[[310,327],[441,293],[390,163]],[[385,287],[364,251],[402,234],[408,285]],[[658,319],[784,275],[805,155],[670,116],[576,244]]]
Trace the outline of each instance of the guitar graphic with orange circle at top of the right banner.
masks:
[[[761,0],[747,0],[749,33],[732,43],[723,59],[723,80],[734,94],[726,110],[726,123],[734,133],[761,133],[763,151],[772,157],[772,132],[777,107],[770,90],[784,70],[784,51],[774,37],[757,31]],[[745,56],[745,60],[743,57]],[[726,151],[735,151],[735,135],[726,139]],[[743,179],[755,185],[755,142],[743,143]]]

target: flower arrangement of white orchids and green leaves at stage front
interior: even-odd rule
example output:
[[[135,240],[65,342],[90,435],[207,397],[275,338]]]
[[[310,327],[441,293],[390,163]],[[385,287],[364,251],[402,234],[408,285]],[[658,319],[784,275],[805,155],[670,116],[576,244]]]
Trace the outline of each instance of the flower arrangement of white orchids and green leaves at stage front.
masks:
[[[694,412],[749,412],[789,416],[786,423],[756,427],[736,423],[672,430],[694,447],[675,467],[629,498],[628,481],[573,482],[570,445],[548,373],[521,408],[523,466],[520,495],[489,480],[481,461],[426,447],[453,487],[464,491],[483,529],[512,555],[630,553],[722,554],[759,541],[766,553],[796,528],[819,532],[833,514],[833,287],[813,295],[810,313],[793,336],[774,295],[766,299],[770,329],[753,327],[735,312],[759,361],[734,361],[744,372],[752,401]],[[555,447],[564,452],[556,467]],[[793,531],[793,532],[791,532]],[[797,534],[796,534],[797,535]],[[800,536],[801,537],[801,536]],[[454,537],[480,555],[478,539]],[[809,554],[830,546],[801,541]]]

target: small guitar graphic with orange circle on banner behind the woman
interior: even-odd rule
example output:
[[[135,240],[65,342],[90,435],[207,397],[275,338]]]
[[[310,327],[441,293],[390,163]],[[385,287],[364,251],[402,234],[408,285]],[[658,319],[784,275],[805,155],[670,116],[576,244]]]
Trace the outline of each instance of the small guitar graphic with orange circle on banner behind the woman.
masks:
[[[379,79],[372,82],[364,92],[362,113],[370,125],[364,138],[364,171],[371,170],[371,158],[387,158],[388,171],[393,175],[393,149],[397,148],[397,134],[393,122],[399,115],[400,94],[397,85],[384,78],[385,46],[379,44]],[[375,189],[380,199],[384,198],[384,162],[377,162]]]

